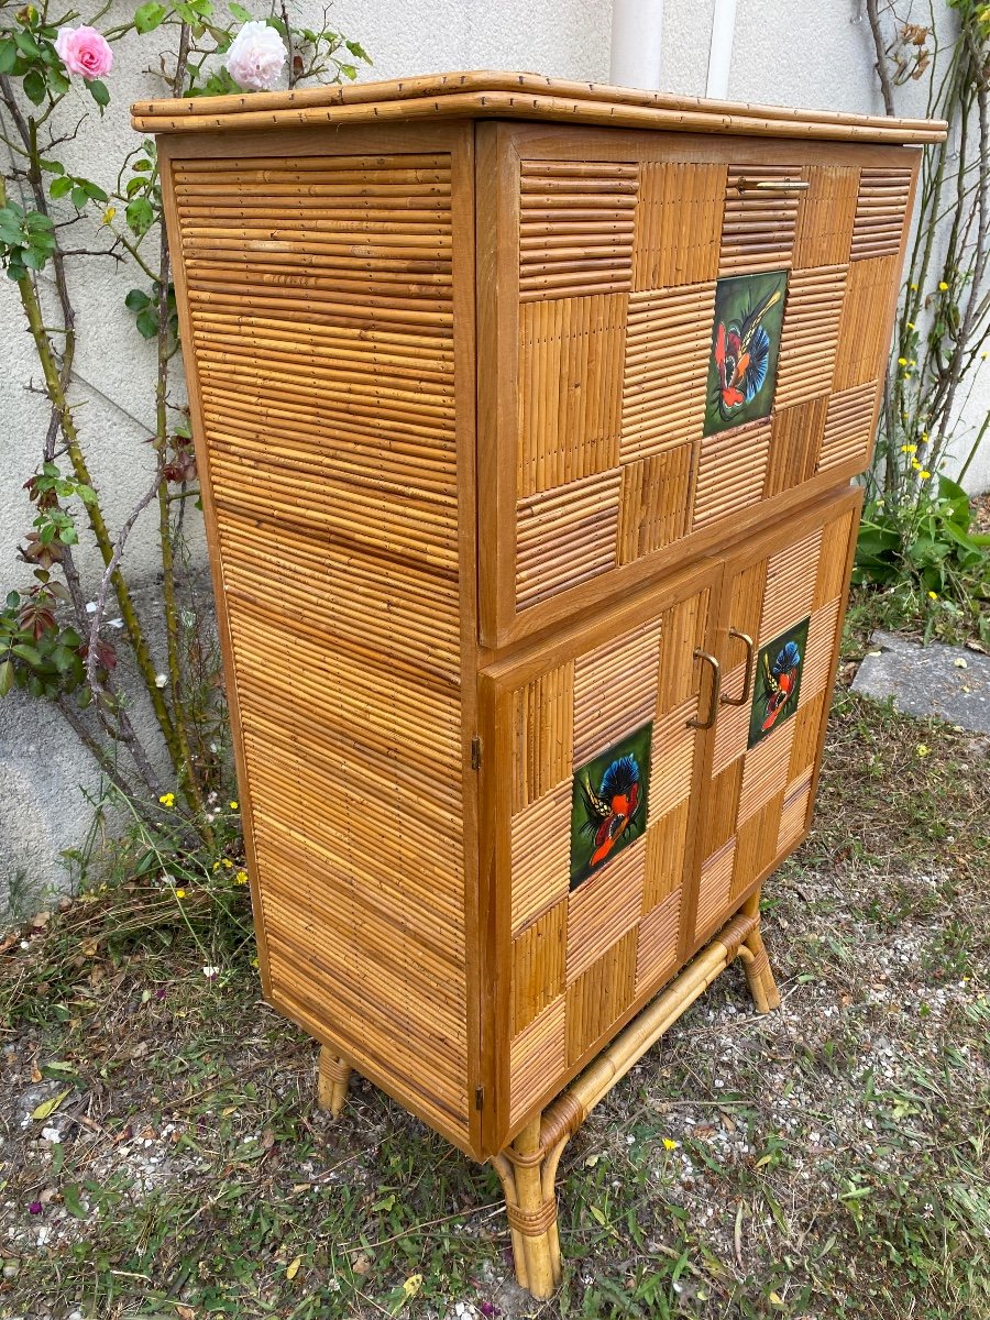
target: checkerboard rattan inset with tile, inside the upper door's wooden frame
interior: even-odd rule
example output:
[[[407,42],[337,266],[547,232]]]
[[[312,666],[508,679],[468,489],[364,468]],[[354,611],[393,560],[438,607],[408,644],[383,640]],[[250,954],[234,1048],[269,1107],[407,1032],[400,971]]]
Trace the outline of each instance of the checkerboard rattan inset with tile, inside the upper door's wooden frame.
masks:
[[[867,465],[911,182],[523,156],[516,611]]]

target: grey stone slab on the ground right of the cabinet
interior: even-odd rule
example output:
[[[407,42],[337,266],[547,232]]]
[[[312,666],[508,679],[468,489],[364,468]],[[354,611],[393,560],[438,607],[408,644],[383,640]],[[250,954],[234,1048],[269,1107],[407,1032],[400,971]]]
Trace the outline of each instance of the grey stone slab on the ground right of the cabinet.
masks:
[[[906,715],[936,715],[990,734],[990,656],[936,642],[923,647],[892,632],[874,632],[853,692],[894,705]]]

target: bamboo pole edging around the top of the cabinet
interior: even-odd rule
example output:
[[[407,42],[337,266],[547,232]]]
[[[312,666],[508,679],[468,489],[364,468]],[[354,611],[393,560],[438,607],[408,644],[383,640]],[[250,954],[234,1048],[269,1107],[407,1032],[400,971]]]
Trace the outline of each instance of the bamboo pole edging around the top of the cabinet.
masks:
[[[615,87],[609,83],[573,82],[561,78],[545,78],[531,73],[508,73],[503,70],[471,70],[465,73],[426,74],[418,78],[388,79],[381,82],[355,83],[345,87],[308,87],[294,91],[260,92],[251,95],[205,96],[189,100],[140,100],[132,106],[135,117],[197,117],[207,115],[234,116],[260,111],[286,111],[294,107],[331,106],[372,106],[379,102],[412,102],[420,98],[441,100],[466,92],[527,92],[548,94],[554,99],[578,103],[611,103],[636,108],[665,111],[708,111],[721,112],[731,117],[751,117],[779,120],[796,124],[826,124],[830,127],[858,127],[879,129],[884,139],[890,129],[900,133],[920,131],[940,132],[945,136],[942,120],[892,119],[882,115],[858,115],[850,111],[799,110],[789,106],[762,106],[750,102],[733,103],[706,100],[702,96],[672,96],[664,92],[640,91],[630,87]],[[372,116],[374,117],[374,116]],[[904,141],[908,141],[907,136]],[[925,137],[925,141],[932,140]]]

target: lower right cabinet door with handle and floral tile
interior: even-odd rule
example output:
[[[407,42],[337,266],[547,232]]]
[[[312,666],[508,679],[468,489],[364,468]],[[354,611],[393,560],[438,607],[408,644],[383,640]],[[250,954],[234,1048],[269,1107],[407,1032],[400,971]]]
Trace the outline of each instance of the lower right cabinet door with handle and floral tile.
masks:
[[[725,560],[725,677],[701,785],[696,948],[807,832],[861,500],[843,491]]]

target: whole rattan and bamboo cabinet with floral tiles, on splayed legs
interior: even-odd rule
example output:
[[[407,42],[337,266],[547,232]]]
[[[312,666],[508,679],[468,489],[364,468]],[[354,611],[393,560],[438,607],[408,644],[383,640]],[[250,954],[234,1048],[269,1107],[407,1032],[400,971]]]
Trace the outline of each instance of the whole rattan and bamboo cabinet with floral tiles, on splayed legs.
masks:
[[[265,994],[506,1187],[804,837],[921,121],[458,74],[154,102]],[[577,1081],[574,1081],[577,1078]]]

